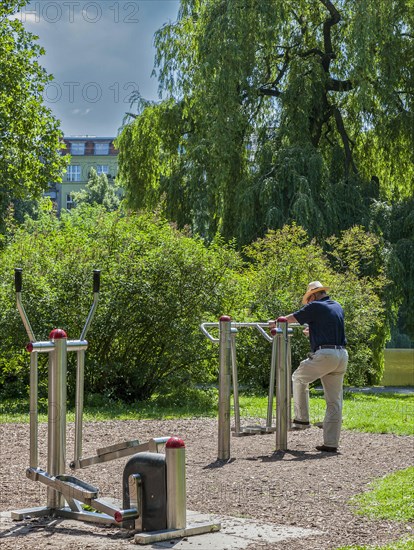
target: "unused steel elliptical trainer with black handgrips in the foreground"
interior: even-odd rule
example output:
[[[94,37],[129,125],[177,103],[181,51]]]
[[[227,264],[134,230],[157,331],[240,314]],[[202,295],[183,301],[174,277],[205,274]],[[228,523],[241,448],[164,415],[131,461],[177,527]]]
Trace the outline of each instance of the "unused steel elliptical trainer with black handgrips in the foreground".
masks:
[[[148,544],[170,538],[220,529],[206,522],[186,525],[185,444],[175,437],[155,437],[147,443],[124,441],[97,449],[96,455],[82,457],[82,416],[84,396],[86,334],[98,304],[100,271],[93,272],[93,303],[79,340],[68,340],[63,329],[53,329],[49,340],[36,340],[21,300],[22,269],[15,269],[17,308],[30,343],[30,467],[26,476],[47,486],[43,507],[14,510],[12,519],[27,516],[59,516],[94,523],[115,524],[145,531],[135,542]],[[99,498],[99,489],[66,475],[66,369],[67,353],[76,351],[75,449],[72,470],[133,455],[123,471],[123,507]],[[38,353],[49,354],[47,471],[39,468],[38,450]],[[165,445],[165,455],[160,447]],[[65,501],[67,506],[65,505]],[[97,512],[85,510],[90,506]]]

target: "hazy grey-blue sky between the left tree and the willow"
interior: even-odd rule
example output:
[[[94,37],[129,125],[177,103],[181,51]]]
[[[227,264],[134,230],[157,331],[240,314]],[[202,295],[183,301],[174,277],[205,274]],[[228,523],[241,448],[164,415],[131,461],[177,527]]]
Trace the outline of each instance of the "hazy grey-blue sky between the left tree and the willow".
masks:
[[[16,15],[46,50],[44,103],[65,135],[116,136],[139,90],[158,99],[154,33],[179,0],[33,0]]]

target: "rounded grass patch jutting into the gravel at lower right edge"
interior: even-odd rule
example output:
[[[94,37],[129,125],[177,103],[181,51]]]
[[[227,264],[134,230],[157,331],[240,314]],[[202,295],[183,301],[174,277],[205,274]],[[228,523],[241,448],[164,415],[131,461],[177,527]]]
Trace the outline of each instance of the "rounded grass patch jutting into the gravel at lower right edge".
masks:
[[[371,491],[356,495],[355,512],[370,519],[414,520],[414,466],[370,483]]]

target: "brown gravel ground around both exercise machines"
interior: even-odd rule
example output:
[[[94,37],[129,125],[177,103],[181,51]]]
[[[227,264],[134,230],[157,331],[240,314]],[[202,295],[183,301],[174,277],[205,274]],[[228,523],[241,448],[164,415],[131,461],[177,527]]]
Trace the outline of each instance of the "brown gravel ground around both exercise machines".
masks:
[[[68,425],[67,462],[73,453],[73,425]],[[414,524],[372,521],[353,514],[349,499],[367,490],[375,478],[413,464],[414,437],[344,430],[340,453],[315,450],[321,431],[312,427],[289,433],[289,451],[274,452],[274,434],[232,438],[232,459],[218,462],[217,422],[212,419],[90,422],[84,426],[84,456],[130,439],[176,435],[187,448],[187,508],[211,514],[253,518],[276,525],[317,529],[321,536],[250,546],[284,550],[330,550],[345,544],[385,544],[414,535]],[[40,425],[40,465],[46,468],[47,426]],[[46,490],[26,479],[29,427],[0,426],[0,511],[43,506]],[[122,498],[125,462],[119,459],[77,471],[99,487],[102,497]],[[69,473],[69,471],[68,471]],[[12,522],[0,519],[2,550],[125,549],[131,533],[62,519]],[[134,545],[133,548],[136,548]],[[201,549],[202,550],[202,549]]]

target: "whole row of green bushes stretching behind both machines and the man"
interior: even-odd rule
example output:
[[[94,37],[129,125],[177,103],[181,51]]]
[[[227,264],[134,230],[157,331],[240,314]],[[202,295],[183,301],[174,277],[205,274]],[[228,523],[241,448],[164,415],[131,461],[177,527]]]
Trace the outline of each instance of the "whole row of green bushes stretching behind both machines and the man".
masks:
[[[134,401],[216,383],[218,346],[202,335],[200,323],[222,314],[236,321],[267,321],[291,313],[315,279],[329,285],[345,308],[347,382],[378,382],[386,281],[378,269],[365,272],[378,243],[360,228],[352,231],[330,242],[331,259],[295,225],[270,232],[246,248],[242,259],[222,242],[206,246],[177,231],[157,213],[108,213],[83,205],[60,220],[52,212],[27,220],[1,253],[0,391],[22,395],[29,382],[14,267],[23,268],[23,303],[38,340],[47,340],[56,327],[69,339],[79,338],[92,303],[92,271],[101,269],[99,304],[87,337],[87,395]],[[362,252],[353,244],[358,239],[365,242]],[[239,331],[237,342],[241,385],[264,389],[271,345],[248,329]],[[294,368],[307,351],[306,338],[295,329]],[[69,354],[68,368],[72,400],[74,355]],[[43,397],[46,359],[39,354]]]

